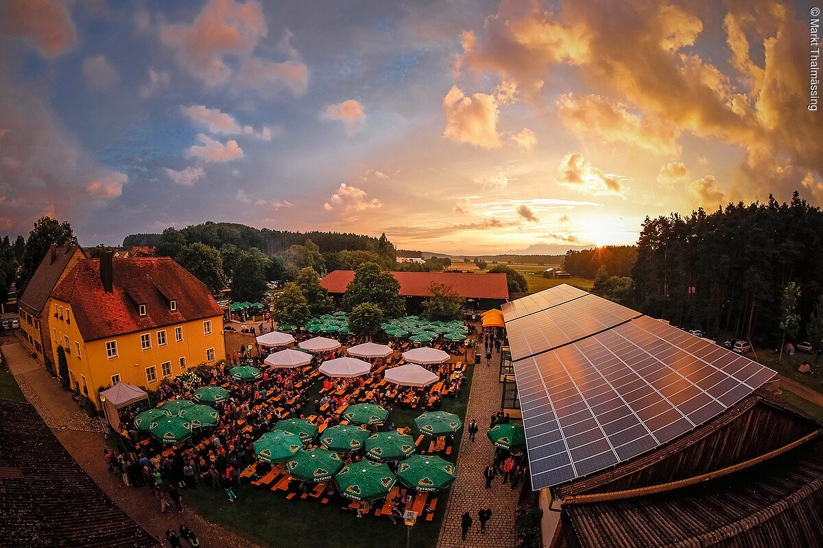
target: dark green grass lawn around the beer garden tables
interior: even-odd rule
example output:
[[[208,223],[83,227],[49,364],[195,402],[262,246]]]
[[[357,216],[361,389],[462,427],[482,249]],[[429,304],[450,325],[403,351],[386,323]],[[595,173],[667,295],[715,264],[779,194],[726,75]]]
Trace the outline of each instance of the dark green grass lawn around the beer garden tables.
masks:
[[[465,370],[466,384],[458,400],[447,397],[443,410],[458,414],[465,421],[468,394],[472,386],[474,366],[469,364]],[[319,394],[321,383],[309,389],[309,403],[306,414],[314,409],[314,399]],[[412,426],[421,411],[406,408],[393,408],[389,420],[395,426]],[[456,462],[459,450],[459,433],[455,447],[448,460]],[[478,471],[479,473],[479,471]],[[341,508],[348,504],[342,498],[335,497],[326,505],[311,498],[307,500],[286,500],[282,491],[272,492],[270,487],[255,487],[247,479],[241,481],[239,490],[235,490],[238,500],[230,503],[224,490],[216,490],[205,483],[199,484],[197,490],[187,490],[184,496],[202,517],[214,523],[220,523],[239,532],[262,546],[347,546],[350,548],[402,548],[406,546],[406,526],[401,523],[393,525],[388,518],[365,516],[356,518],[351,511]],[[412,531],[411,546],[420,548],[436,546],[440,524],[443,521],[448,491],[441,493],[437,501],[435,518],[430,521],[418,521]]]

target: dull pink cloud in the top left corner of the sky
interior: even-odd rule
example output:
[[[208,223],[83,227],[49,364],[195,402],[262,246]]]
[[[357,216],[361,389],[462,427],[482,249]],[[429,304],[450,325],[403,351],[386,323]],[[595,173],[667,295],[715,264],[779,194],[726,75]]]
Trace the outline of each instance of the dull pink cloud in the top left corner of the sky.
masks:
[[[77,44],[77,29],[62,0],[8,0],[0,10],[0,29],[27,39],[45,58],[55,58]]]

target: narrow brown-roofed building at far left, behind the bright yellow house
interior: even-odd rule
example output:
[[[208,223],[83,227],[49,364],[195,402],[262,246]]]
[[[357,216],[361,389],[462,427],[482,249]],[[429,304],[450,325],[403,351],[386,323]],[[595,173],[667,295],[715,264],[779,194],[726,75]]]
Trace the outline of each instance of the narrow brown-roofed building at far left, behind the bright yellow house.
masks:
[[[63,280],[77,261],[86,259],[81,246],[54,246],[40,261],[31,277],[26,291],[18,299],[20,328],[23,330],[23,344],[29,352],[56,374],[57,363],[52,360],[52,343],[49,330],[50,296],[53,289]]]

